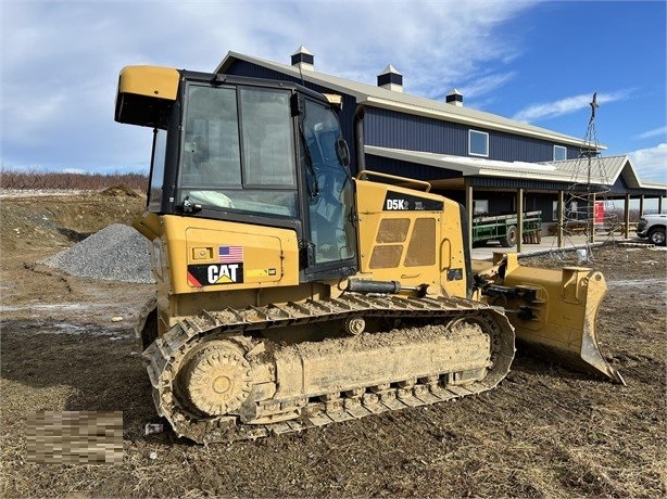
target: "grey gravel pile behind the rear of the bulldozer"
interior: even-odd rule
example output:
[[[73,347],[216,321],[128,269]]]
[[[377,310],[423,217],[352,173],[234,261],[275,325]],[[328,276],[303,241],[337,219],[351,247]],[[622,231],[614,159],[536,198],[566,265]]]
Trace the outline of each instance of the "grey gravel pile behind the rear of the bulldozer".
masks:
[[[155,282],[148,242],[129,226],[114,223],[40,264],[72,276],[104,281]]]

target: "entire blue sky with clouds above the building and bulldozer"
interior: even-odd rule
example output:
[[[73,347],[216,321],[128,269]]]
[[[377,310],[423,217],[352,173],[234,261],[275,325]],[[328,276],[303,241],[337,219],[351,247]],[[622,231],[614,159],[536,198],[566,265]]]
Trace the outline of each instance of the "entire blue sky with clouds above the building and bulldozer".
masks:
[[[1,0],[0,167],[148,174],[151,130],[114,121],[117,75],[213,72],[228,51],[404,91],[583,139],[667,182],[667,1]]]

